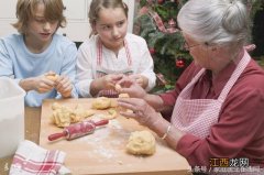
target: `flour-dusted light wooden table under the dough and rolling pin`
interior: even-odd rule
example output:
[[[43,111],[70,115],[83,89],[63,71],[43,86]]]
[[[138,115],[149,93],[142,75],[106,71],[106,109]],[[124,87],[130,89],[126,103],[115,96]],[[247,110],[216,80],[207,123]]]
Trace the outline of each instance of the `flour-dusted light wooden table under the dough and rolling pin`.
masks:
[[[48,100],[47,100],[48,101]],[[76,102],[76,100],[73,100]],[[67,100],[66,103],[72,103],[73,101]],[[84,100],[78,100],[78,101],[82,101]],[[110,154],[108,154],[106,152],[106,147],[101,146],[100,144],[98,144],[98,147],[89,147],[87,146],[87,144],[84,144],[84,146],[79,147],[79,145],[77,146],[77,142],[82,142],[82,143],[91,143],[88,140],[88,136],[92,136],[92,135],[97,135],[98,134],[91,134],[88,135],[86,138],[80,138],[75,140],[74,142],[68,142],[65,140],[61,140],[57,143],[55,142],[55,144],[51,144],[47,141],[45,141],[43,138],[46,138],[47,134],[50,134],[51,132],[46,133],[46,131],[40,132],[40,128],[41,125],[45,125],[43,124],[43,122],[45,120],[42,119],[42,123],[41,123],[41,116],[42,118],[45,117],[45,114],[47,114],[48,112],[48,107],[51,105],[52,101],[45,103],[44,102],[44,110],[42,111],[41,108],[25,108],[25,139],[26,140],[31,140],[37,144],[41,143],[41,146],[45,147],[45,149],[59,149],[63,150],[64,152],[67,153],[66,160],[65,160],[65,164],[67,167],[69,167],[73,172],[73,174],[94,174],[94,175],[106,175],[106,174],[111,174],[111,175],[187,175],[190,174],[188,168],[189,165],[187,163],[187,161],[180,156],[179,154],[177,154],[176,152],[174,152],[173,150],[170,150],[169,147],[167,147],[167,145],[165,145],[164,143],[161,142],[161,140],[157,139],[157,152],[154,154],[154,156],[152,157],[142,157],[142,156],[132,156],[132,155],[128,155],[124,150],[119,146],[117,147],[118,150],[121,149],[119,156],[110,156]],[[122,119],[119,119],[122,120]],[[121,121],[120,121],[121,122]],[[45,122],[44,122],[45,123]],[[128,124],[128,123],[127,123]],[[141,129],[141,128],[131,128],[128,130],[134,130],[134,129]],[[50,129],[48,129],[50,130]],[[57,129],[55,129],[57,130]],[[98,131],[98,132],[103,132],[103,131]],[[41,136],[40,136],[41,135]],[[120,135],[119,135],[120,136]],[[41,139],[40,139],[41,138]],[[107,139],[108,141],[111,141],[110,139]],[[124,139],[123,139],[124,140]],[[86,142],[84,142],[86,141]],[[116,142],[117,143],[117,142]],[[113,143],[113,145],[116,144]],[[72,145],[70,145],[72,144]],[[72,151],[67,150],[67,146],[72,146]],[[117,145],[117,144],[116,144]],[[86,152],[78,152],[79,150],[87,147]],[[92,150],[89,150],[92,149]],[[100,150],[102,149],[102,150]],[[98,151],[102,151],[100,154],[101,157],[95,157],[94,160],[91,158],[84,158],[84,155],[89,155],[88,152],[95,152],[98,153]],[[118,152],[118,150],[113,150],[113,147],[111,147],[111,150],[109,151],[114,151],[116,153]],[[78,155],[81,155],[76,158],[76,156],[74,156],[74,152],[76,152]],[[162,155],[164,153],[164,155]],[[90,155],[96,155],[96,154],[90,154]],[[155,157],[158,156],[158,157]],[[107,157],[107,158],[106,158]],[[107,160],[107,161],[103,161]],[[0,175],[7,175],[8,174],[8,168],[10,166],[10,163],[12,161],[12,156],[7,157],[7,158],[1,158],[0,160]],[[87,164],[86,166],[84,166],[85,164],[80,164],[81,166],[79,166],[79,162],[80,161],[86,161]],[[172,162],[174,161],[174,162]],[[102,171],[100,169],[102,168]],[[88,172],[87,172],[88,171]],[[116,173],[114,173],[116,172]]]

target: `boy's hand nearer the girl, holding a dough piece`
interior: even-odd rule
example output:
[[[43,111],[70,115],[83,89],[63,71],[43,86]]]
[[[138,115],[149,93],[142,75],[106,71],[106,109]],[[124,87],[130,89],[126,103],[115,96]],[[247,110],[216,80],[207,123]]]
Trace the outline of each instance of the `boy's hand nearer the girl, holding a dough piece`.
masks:
[[[73,84],[70,79],[62,75],[55,80],[55,89],[64,97],[72,97]]]

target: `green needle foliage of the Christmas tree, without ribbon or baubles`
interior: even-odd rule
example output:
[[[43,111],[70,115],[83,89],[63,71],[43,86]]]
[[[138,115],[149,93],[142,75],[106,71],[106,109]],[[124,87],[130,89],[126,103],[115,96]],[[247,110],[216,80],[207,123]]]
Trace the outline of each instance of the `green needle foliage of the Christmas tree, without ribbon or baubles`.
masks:
[[[182,3],[169,0],[158,4],[141,0],[140,8],[142,7],[147,7],[150,13],[156,12],[166,29],[174,28],[177,30],[177,32],[174,33],[161,31],[150,13],[139,15],[134,22],[138,29],[138,31],[134,32],[144,37],[148,48],[154,52],[152,53],[152,57],[154,59],[155,73],[162,73],[167,81],[163,88],[165,90],[170,89],[182,72],[191,62],[189,53],[184,48],[184,37],[177,29],[177,25],[169,26],[168,24],[169,20],[176,22],[176,17]],[[185,66],[177,67],[177,59],[183,61]]]

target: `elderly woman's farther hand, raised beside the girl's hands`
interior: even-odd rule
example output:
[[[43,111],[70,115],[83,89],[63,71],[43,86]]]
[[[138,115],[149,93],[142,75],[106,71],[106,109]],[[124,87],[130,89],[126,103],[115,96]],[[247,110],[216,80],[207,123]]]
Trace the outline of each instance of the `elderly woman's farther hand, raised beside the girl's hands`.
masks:
[[[147,94],[134,79],[125,77],[117,83],[121,86],[120,94],[129,94],[130,97],[144,98]],[[117,90],[117,89],[116,89]]]

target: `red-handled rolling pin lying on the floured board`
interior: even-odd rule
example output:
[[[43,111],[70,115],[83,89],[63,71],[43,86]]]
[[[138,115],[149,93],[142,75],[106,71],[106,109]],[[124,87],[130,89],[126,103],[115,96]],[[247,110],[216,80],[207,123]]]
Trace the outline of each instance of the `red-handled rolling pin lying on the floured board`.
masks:
[[[92,120],[82,121],[80,123],[70,124],[64,128],[63,132],[51,134],[47,139],[54,141],[65,136],[66,140],[69,141],[92,133],[97,127],[105,124],[108,124],[108,120],[100,120],[97,122]]]

